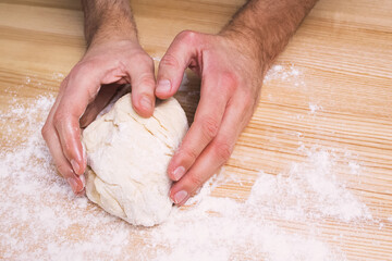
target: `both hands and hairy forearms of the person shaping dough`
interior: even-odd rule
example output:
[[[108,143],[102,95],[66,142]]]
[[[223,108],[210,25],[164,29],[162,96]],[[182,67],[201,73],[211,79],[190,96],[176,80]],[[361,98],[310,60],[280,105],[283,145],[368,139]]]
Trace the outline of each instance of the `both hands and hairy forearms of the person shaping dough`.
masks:
[[[87,126],[123,84],[132,86],[139,115],[152,114],[189,67],[201,78],[194,122],[174,153],[170,197],[184,204],[233,151],[257,105],[266,71],[317,0],[250,0],[217,35],[180,33],[162,57],[157,77],[140,47],[126,0],[83,0],[87,50],[60,86],[42,136],[60,174],[75,194],[84,190]]]

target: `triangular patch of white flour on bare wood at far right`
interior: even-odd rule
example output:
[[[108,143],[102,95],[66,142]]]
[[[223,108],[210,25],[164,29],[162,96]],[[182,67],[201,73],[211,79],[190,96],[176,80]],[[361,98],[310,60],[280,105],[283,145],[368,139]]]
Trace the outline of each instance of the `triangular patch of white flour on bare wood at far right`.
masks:
[[[315,149],[306,152],[307,160],[292,163],[287,173],[273,176],[260,172],[247,202],[265,211],[273,210],[282,220],[370,220],[366,204],[336,177],[333,153]]]

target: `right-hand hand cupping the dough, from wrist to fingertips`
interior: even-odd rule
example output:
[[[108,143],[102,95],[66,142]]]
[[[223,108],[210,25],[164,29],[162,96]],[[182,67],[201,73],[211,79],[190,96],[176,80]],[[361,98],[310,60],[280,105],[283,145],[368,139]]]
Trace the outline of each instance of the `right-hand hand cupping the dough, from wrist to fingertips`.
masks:
[[[160,99],[177,91],[185,69],[201,77],[194,123],[168,167],[174,203],[185,203],[229,160],[259,97],[265,66],[257,52],[235,34],[182,32],[160,61]]]

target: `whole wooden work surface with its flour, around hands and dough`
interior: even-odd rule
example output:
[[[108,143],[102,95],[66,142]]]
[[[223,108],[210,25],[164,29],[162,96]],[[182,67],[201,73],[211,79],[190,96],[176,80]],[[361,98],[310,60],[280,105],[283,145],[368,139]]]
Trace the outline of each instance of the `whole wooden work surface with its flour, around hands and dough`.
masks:
[[[217,33],[243,2],[132,8],[158,65],[179,32]],[[48,97],[85,51],[77,1],[0,3],[0,259],[389,260],[391,3],[320,0],[266,77],[211,194],[148,229],[75,198],[40,138]],[[176,98],[191,122],[199,82],[187,79]]]

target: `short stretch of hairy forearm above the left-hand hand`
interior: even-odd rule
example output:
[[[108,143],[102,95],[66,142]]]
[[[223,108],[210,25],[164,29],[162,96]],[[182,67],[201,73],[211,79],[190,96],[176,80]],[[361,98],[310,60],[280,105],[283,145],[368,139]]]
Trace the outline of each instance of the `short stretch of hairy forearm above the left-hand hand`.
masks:
[[[82,0],[87,46],[108,39],[137,39],[127,0]]]

